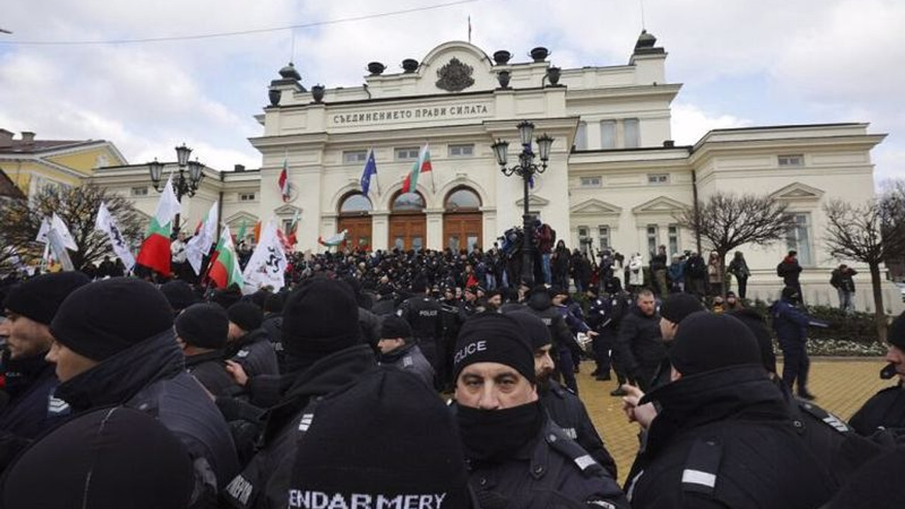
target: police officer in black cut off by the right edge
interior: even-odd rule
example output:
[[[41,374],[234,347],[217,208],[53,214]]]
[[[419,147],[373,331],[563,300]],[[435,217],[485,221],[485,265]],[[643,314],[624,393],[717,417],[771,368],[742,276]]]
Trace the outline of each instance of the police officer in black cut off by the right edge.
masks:
[[[863,436],[870,436],[877,430],[905,428],[905,312],[890,325],[886,341],[890,342],[886,360],[890,363],[886,371],[889,376],[897,376],[896,385],[882,389],[868,399],[849,420],[849,424]]]

